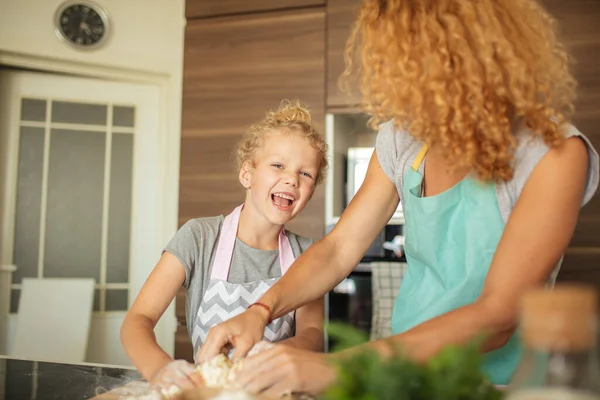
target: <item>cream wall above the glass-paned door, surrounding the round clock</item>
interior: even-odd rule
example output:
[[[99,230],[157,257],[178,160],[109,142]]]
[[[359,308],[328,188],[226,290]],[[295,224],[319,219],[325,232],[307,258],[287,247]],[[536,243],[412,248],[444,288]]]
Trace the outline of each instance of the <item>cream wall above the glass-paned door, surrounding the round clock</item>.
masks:
[[[94,51],[75,51],[54,33],[63,0],[0,0],[0,50],[169,75],[182,70],[183,0],[94,0],[108,11],[112,34]]]

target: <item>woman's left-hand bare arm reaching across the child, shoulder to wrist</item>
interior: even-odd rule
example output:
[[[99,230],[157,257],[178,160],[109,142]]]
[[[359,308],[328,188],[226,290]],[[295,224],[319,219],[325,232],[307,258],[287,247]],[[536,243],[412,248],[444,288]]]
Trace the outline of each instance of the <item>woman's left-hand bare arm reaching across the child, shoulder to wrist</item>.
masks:
[[[365,180],[333,230],[309,247],[260,301],[277,318],[324,296],[360,262],[398,207],[396,186],[373,152]],[[318,279],[316,279],[318,277]],[[297,290],[298,287],[303,290]]]

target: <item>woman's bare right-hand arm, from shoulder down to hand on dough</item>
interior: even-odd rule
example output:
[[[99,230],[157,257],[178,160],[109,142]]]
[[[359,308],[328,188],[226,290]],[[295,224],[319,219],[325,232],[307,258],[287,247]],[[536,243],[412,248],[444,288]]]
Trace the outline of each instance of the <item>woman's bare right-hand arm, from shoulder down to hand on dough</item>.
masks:
[[[410,331],[340,353],[316,354],[276,346],[245,361],[240,384],[253,393],[286,391],[317,394],[335,380],[328,359],[365,346],[383,356],[400,343],[407,355],[425,360],[449,344],[482,332],[491,334],[485,351],[503,346],[516,327],[517,302],[529,287],[543,285],[567,248],[587,175],[588,155],[581,140],[551,150],[527,181],[492,260],[484,289],[473,304],[433,318]]]

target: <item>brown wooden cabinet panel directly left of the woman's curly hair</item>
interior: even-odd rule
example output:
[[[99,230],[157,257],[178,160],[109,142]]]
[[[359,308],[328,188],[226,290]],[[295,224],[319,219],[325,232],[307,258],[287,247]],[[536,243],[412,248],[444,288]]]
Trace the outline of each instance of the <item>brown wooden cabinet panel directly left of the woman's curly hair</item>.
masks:
[[[328,0],[327,2],[327,108],[355,108],[361,101],[358,88],[342,93],[338,78],[344,72],[344,49],[350,36],[360,0]]]

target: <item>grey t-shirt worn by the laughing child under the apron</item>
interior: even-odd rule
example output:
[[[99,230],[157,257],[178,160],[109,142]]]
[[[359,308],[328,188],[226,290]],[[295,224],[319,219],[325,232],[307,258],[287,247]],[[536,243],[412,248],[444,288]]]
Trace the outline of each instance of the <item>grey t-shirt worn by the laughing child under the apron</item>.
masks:
[[[177,257],[185,269],[183,286],[187,289],[186,319],[190,337],[210,280],[223,220],[222,215],[191,219],[179,228],[164,249]],[[314,242],[313,239],[298,236],[288,230],[286,235],[296,258]],[[247,283],[279,277],[279,250],[258,250],[235,239],[228,282]]]

